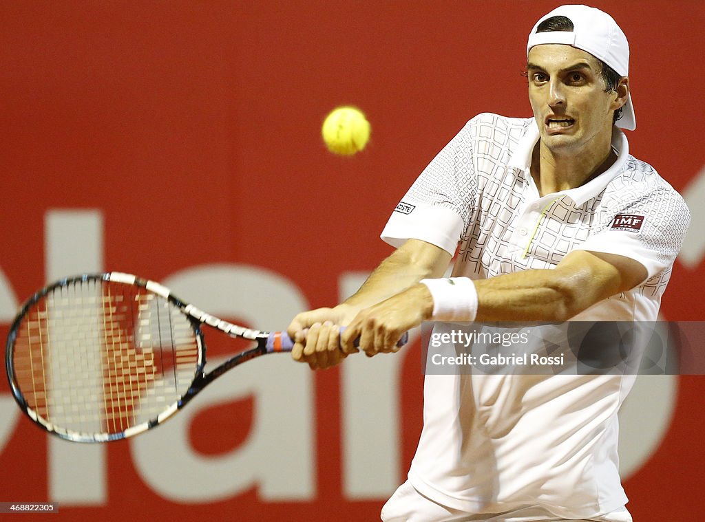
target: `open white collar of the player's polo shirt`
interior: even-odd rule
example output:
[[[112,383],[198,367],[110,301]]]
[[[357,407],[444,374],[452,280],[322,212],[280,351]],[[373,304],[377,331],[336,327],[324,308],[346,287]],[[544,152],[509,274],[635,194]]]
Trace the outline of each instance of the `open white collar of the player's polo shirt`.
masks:
[[[509,160],[508,166],[523,170],[526,175],[530,175],[532,155],[534,154],[534,147],[538,141],[539,126],[536,123],[536,119],[531,118],[525,134],[517,143],[517,147]],[[617,161],[615,161],[610,168],[580,187],[575,187],[570,190],[561,190],[560,192],[556,192],[556,194],[563,194],[569,197],[576,205],[582,205],[588,199],[594,198],[600,194],[607,184],[623,170],[625,163],[627,163],[627,156],[629,156],[629,141],[625,133],[617,126],[612,127],[612,148],[617,153]]]

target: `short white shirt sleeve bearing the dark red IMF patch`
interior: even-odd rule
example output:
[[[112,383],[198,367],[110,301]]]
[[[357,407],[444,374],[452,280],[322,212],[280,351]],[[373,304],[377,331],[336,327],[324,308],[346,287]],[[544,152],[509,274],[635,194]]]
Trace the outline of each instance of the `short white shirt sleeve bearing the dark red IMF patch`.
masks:
[[[652,278],[673,266],[689,224],[685,201],[670,186],[662,186],[626,206],[613,206],[599,230],[577,249],[635,259]]]

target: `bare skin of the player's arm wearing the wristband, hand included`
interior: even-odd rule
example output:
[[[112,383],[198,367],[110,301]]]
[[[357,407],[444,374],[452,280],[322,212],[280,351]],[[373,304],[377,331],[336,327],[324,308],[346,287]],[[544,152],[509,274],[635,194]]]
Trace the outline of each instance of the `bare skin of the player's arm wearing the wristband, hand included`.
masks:
[[[455,321],[566,321],[590,306],[646,280],[646,268],[625,256],[573,251],[556,268],[527,270],[473,281],[477,315]],[[434,299],[419,283],[357,314],[348,328],[404,331],[433,320]],[[384,335],[377,335],[382,338]],[[368,355],[391,347],[365,347]]]

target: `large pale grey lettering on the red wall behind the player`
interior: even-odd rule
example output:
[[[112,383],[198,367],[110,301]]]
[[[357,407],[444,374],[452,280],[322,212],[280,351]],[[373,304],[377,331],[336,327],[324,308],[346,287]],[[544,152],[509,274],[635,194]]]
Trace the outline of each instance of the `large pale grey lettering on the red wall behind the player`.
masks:
[[[700,178],[705,179],[705,174]],[[102,271],[102,214],[48,211],[45,246],[47,281]],[[692,251],[692,259],[697,252],[699,247]],[[339,280],[341,299],[357,290],[366,276],[343,273]],[[164,284],[215,315],[241,318],[254,328],[284,328],[295,313],[307,309],[302,294],[290,281],[252,266],[199,266],[176,273]],[[17,306],[11,282],[0,270],[0,321],[10,323]],[[406,464],[400,462],[399,443],[403,354],[402,350],[396,356],[373,359],[353,356],[341,367],[341,458],[343,495],[348,499],[384,498],[406,472]],[[209,361],[209,366],[216,363]],[[623,479],[636,473],[658,449],[673,416],[677,387],[678,379],[672,375],[637,379],[620,411]],[[135,468],[152,490],[175,502],[212,502],[253,485],[263,499],[273,502],[313,499],[317,441],[312,394],[312,373],[307,366],[292,364],[287,356],[250,361],[219,378],[154,433],[130,442]],[[192,418],[204,408],[245,396],[255,397],[253,429],[245,444],[223,456],[197,454],[185,435]],[[11,395],[0,394],[0,453],[18,422],[24,421],[20,416]],[[66,506],[106,505],[105,447],[47,437],[49,499]]]

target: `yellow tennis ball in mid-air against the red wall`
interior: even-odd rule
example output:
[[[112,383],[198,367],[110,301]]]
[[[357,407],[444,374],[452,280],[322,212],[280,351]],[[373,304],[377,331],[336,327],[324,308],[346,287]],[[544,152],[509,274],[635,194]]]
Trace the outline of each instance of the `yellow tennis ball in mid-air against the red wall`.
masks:
[[[364,149],[369,140],[370,126],[360,109],[338,107],[323,122],[321,135],[333,154],[353,156]]]

